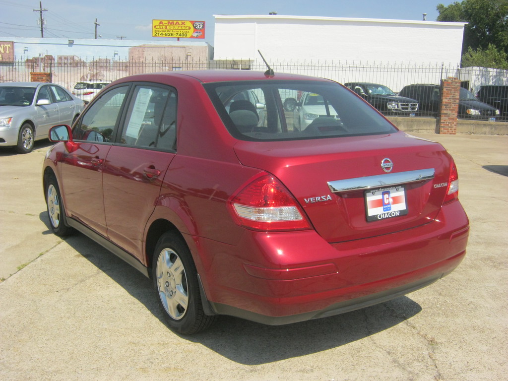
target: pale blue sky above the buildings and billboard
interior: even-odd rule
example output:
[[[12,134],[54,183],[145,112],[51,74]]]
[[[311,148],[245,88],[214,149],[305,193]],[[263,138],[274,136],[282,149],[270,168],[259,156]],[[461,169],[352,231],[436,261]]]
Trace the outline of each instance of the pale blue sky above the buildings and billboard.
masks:
[[[435,21],[449,0],[42,0],[44,37],[152,40],[151,20],[205,21],[213,45],[213,15],[279,15]],[[0,36],[41,37],[38,0],[0,0]],[[99,37],[98,37],[99,38]],[[168,42],[175,40],[167,39]]]

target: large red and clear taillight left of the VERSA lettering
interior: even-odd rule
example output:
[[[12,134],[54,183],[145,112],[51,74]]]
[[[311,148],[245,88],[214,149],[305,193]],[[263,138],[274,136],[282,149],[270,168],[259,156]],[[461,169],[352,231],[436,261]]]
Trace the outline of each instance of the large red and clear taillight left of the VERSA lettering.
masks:
[[[228,200],[240,226],[259,231],[310,229],[296,200],[282,183],[267,173],[239,188]]]

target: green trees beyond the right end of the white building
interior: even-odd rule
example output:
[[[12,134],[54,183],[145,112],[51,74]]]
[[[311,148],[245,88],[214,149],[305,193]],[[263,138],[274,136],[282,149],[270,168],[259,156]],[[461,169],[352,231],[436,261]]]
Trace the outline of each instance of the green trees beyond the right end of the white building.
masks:
[[[448,6],[438,4],[436,9],[437,21],[468,23],[464,28],[462,66],[465,60],[474,58],[474,61],[498,62],[497,68],[504,67],[508,56],[507,0],[463,0]]]

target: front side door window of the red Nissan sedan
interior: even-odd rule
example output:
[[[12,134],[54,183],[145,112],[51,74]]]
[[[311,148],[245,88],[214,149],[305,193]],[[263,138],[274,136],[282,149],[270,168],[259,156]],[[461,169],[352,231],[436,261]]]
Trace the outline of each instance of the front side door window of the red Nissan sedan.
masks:
[[[83,114],[73,130],[75,140],[111,142],[129,86],[111,89]]]

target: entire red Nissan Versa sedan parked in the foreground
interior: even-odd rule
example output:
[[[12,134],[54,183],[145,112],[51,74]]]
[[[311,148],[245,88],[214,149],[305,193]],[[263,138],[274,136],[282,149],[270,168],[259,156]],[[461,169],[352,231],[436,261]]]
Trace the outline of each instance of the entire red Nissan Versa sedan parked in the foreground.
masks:
[[[284,100],[304,94],[320,102],[295,123]],[[126,77],[50,139],[54,233],[78,230],[151,277],[180,333],[220,314],[280,325],[363,308],[465,255],[450,154],[330,80]]]

